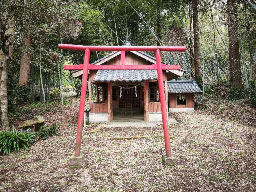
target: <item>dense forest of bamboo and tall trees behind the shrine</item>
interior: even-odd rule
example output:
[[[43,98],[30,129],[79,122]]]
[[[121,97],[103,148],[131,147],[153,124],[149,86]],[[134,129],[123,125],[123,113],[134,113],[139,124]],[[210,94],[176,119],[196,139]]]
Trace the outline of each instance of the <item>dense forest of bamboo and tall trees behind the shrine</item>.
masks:
[[[255,23],[250,0],[1,0],[1,126],[9,129],[8,114],[20,102],[80,94],[80,80],[63,65],[81,63],[83,53],[62,52],[60,42],[186,46],[162,56],[186,70],[184,80],[246,91],[256,78]],[[93,52],[90,62],[106,54]]]

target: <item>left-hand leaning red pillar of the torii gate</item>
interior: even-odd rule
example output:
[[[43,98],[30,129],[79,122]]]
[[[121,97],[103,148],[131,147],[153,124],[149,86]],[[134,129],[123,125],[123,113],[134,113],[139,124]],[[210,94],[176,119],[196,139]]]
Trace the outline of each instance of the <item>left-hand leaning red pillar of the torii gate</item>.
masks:
[[[76,132],[75,157],[80,156],[82,130],[83,130],[83,124],[84,124],[84,106],[85,106],[85,103],[86,103],[86,86],[87,86],[87,78],[88,78],[89,61],[90,61],[90,50],[86,49],[85,52],[84,52],[84,65],[83,65],[84,68],[83,68],[81,96],[80,96],[77,132]]]

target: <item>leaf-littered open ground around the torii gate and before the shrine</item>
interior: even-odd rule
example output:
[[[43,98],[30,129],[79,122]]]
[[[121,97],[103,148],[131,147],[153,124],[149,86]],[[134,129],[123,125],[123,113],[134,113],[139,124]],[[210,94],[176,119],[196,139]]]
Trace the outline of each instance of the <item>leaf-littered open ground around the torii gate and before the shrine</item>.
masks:
[[[26,115],[24,115],[26,114]],[[256,191],[256,129],[209,111],[173,114],[172,152],[177,166],[164,166],[162,127],[84,128],[82,167],[68,166],[74,152],[78,98],[20,108],[22,119],[41,114],[61,125],[56,136],[28,150],[0,156],[0,191],[146,192]],[[14,125],[18,123],[14,122]],[[109,137],[147,136],[136,140]]]

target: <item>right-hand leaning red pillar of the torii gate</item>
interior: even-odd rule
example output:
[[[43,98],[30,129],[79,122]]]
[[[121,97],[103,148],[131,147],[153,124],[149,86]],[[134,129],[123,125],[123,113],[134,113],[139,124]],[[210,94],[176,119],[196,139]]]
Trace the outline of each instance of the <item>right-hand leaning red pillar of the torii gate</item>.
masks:
[[[157,49],[155,53],[156,53],[159,96],[160,96],[160,102],[161,102],[163,129],[164,129],[164,144],[165,144],[166,156],[170,157],[171,148],[170,148],[170,137],[169,137],[169,130],[168,130],[167,114],[166,114],[166,102],[165,102],[165,95],[164,95],[164,81],[163,81],[163,71],[162,71],[162,64],[161,64],[161,53],[159,49]]]

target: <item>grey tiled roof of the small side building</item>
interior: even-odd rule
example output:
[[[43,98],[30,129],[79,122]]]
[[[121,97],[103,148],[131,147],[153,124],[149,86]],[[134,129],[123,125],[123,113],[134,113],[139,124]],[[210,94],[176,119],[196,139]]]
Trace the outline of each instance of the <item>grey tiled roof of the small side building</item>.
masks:
[[[194,81],[168,81],[169,93],[202,93]]]

